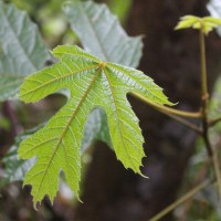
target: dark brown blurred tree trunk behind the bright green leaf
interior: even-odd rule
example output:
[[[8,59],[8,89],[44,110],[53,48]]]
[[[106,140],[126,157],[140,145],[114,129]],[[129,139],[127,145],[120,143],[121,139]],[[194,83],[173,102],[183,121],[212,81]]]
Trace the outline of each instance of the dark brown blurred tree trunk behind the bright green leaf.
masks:
[[[131,35],[145,34],[140,70],[165,88],[177,108],[198,110],[200,65],[198,33],[173,31],[185,14],[206,15],[206,0],[136,0],[128,21]],[[209,90],[218,76],[221,41],[215,33],[207,41]],[[144,179],[123,168],[112,150],[96,144],[78,206],[80,221],[147,221],[171,203],[182,182],[196,133],[130,98],[146,140]],[[171,221],[171,214],[164,220]]]

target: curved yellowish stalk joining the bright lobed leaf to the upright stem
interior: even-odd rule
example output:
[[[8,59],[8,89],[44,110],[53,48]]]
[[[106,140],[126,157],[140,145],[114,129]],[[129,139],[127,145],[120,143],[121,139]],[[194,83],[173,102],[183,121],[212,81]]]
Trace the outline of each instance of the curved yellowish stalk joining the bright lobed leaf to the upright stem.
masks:
[[[156,109],[167,113],[167,114],[173,114],[173,115],[178,115],[181,117],[188,117],[188,118],[201,118],[201,116],[202,116],[200,112],[183,112],[183,110],[173,109],[171,107],[167,107],[167,106],[164,106],[160,104],[156,104],[136,92],[133,92],[131,95],[134,95],[135,97],[140,99],[143,103],[146,103],[146,104],[155,107]]]

